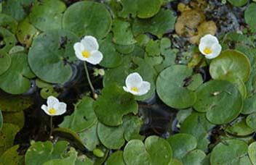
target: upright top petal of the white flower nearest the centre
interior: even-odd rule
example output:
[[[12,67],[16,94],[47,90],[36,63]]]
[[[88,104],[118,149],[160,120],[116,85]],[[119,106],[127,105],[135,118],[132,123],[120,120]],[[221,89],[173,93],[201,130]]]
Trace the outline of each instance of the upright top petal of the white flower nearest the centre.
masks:
[[[128,89],[132,87],[138,88],[142,83],[143,83],[143,78],[137,72],[129,74],[127,76],[127,79],[125,80],[125,84],[127,85]]]

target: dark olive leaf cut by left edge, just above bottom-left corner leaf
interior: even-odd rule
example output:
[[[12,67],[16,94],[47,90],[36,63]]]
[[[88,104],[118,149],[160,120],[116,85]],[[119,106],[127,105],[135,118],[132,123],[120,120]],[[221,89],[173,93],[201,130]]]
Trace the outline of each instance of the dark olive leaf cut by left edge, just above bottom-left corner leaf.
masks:
[[[20,128],[15,124],[5,124],[0,131],[0,156],[8,148],[12,147],[15,135],[19,132]]]

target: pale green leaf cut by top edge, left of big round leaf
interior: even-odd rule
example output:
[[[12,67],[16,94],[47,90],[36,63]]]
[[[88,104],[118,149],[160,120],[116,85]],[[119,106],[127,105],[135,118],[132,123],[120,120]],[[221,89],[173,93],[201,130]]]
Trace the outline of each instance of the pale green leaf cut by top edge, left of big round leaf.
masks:
[[[36,1],[29,14],[29,22],[41,31],[61,29],[65,9],[60,0]]]

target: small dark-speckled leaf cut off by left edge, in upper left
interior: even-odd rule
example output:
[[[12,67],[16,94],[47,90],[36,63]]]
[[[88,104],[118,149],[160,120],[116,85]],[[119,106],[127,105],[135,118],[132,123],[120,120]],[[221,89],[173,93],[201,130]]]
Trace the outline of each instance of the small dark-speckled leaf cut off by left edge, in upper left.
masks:
[[[0,27],[0,36],[3,38],[0,43],[0,51],[9,52],[13,46],[15,46],[16,38],[15,35],[10,33],[9,30]]]

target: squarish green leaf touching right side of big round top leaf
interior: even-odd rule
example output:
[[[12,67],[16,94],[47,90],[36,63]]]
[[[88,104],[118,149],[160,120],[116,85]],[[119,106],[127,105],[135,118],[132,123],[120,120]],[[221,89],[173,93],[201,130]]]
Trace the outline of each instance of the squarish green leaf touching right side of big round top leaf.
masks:
[[[131,45],[136,43],[132,35],[132,29],[129,22],[115,19],[113,20],[113,42],[119,45]]]

